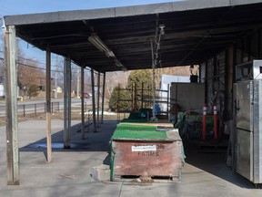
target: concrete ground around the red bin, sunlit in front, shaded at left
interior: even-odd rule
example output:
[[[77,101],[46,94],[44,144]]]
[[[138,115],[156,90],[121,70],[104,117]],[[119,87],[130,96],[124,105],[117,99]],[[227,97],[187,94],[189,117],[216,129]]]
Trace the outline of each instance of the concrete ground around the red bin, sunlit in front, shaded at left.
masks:
[[[20,122],[20,185],[6,185],[5,127],[0,128],[0,196],[262,196],[225,162],[226,152],[199,152],[186,144],[186,165],[180,183],[136,183],[131,181],[96,182],[90,176],[92,167],[108,163],[109,140],[116,121],[105,121],[98,132],[86,132],[81,140],[80,121],[72,121],[71,150],[53,148],[53,161],[46,163],[45,120]],[[63,142],[62,120],[52,120],[53,142]],[[34,146],[32,146],[34,144]]]

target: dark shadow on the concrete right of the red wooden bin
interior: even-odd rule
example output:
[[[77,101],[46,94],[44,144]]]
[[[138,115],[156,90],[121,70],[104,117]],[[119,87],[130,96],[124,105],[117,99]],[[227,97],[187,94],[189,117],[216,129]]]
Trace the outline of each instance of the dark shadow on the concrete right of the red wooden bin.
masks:
[[[241,188],[256,189],[251,181],[248,181],[227,166],[227,147],[218,150],[214,150],[212,147],[205,147],[203,149],[197,147],[196,143],[192,141],[184,141],[184,147],[186,163],[203,171],[207,171]]]

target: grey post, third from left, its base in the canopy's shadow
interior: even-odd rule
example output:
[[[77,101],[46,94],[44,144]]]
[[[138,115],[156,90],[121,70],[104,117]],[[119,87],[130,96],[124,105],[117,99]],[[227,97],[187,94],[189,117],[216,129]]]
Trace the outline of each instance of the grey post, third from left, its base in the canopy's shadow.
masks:
[[[71,127],[71,59],[65,57],[64,63],[64,149],[70,149]]]

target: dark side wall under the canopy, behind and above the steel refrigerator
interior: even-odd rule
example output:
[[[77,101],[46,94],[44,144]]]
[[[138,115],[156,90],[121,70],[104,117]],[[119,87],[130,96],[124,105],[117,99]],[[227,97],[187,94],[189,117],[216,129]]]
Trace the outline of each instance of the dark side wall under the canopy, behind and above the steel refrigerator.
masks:
[[[231,46],[200,64],[200,82],[206,84],[206,103],[209,112],[212,111],[213,105],[217,104],[220,118],[224,121],[233,119],[235,67],[253,59],[261,59],[261,32],[261,29],[258,29],[249,36],[232,42]]]

